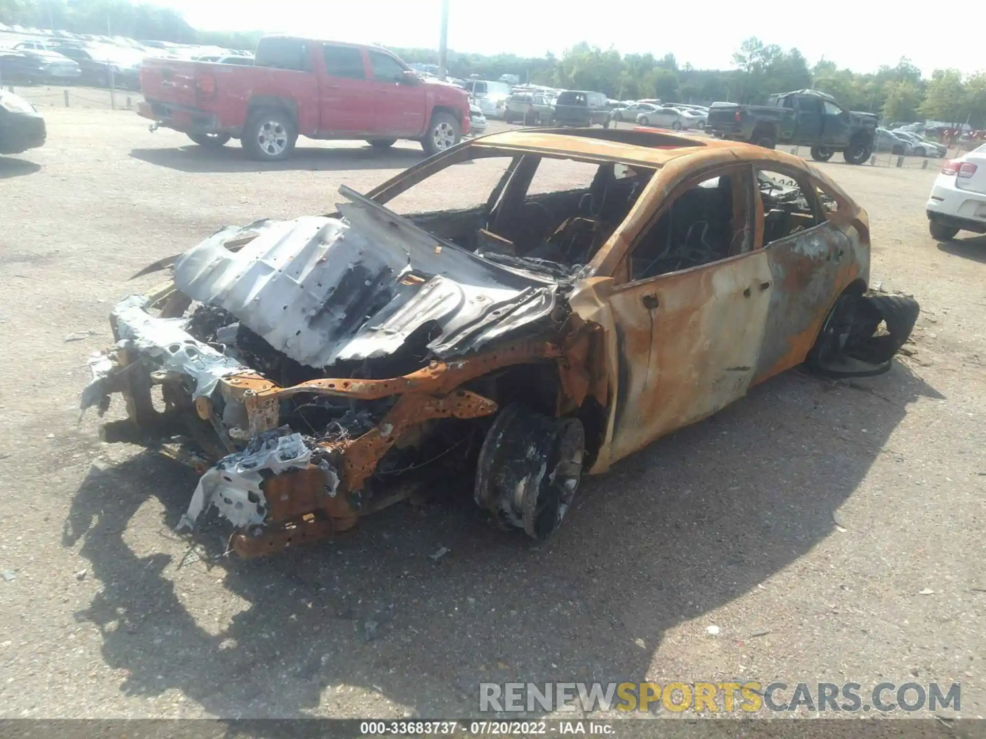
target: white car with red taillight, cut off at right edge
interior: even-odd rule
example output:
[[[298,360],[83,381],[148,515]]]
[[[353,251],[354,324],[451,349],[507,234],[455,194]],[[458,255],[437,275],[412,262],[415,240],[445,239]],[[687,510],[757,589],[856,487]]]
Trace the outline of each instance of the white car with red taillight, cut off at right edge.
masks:
[[[940,241],[959,231],[986,234],[986,144],[945,163],[925,209],[928,229]]]

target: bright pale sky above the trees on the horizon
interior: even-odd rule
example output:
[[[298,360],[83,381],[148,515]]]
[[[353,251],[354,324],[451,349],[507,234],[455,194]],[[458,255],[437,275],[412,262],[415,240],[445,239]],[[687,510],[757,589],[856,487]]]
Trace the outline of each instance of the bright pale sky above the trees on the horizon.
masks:
[[[305,34],[385,46],[438,46],[441,0],[151,0],[181,11],[208,31]],[[781,9],[783,6],[769,3]],[[740,41],[797,46],[857,72],[907,56],[930,75],[936,67],[986,70],[976,39],[963,34],[971,6],[911,6],[856,0],[790,3],[790,13],[764,13],[753,0],[450,0],[449,46],[482,54],[560,54],[581,40],[621,53],[673,53],[679,64],[728,68]],[[955,8],[950,14],[946,8]],[[953,15],[954,17],[950,17]],[[965,40],[959,40],[964,38]],[[971,39],[971,40],[970,40]]]

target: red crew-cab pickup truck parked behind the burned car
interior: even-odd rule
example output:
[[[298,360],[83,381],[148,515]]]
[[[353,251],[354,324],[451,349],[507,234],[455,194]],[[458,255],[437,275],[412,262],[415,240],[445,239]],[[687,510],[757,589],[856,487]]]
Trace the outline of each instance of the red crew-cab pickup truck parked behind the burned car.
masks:
[[[299,135],[420,141],[428,154],[469,130],[468,94],[417,77],[378,46],[285,35],[260,39],[253,66],[147,59],[138,113],[201,146],[241,140],[247,156],[287,159]]]

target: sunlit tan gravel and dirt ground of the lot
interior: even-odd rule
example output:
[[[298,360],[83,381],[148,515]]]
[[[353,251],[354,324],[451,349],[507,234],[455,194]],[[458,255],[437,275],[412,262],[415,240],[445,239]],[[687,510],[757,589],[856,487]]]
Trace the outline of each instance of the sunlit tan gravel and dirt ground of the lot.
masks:
[[[585,481],[547,547],[460,495],[210,561],[172,531],[194,475],[78,423],[109,307],[217,227],[326,212],[420,151],[265,167],[131,113],[45,115],[47,146],[0,159],[0,716],[452,716],[482,681],[737,677],[960,682],[986,714],[986,238],[929,237],[935,168],[824,166],[870,212],[875,282],[922,303],[888,374],[757,387]]]

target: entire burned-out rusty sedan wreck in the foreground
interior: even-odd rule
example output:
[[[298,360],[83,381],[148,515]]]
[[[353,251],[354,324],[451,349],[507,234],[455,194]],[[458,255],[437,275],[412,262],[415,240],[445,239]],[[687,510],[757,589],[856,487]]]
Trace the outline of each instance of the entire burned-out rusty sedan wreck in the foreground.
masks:
[[[482,161],[502,173],[479,205],[387,207]],[[591,181],[531,187],[566,163]],[[194,467],[179,527],[215,507],[246,557],[350,529],[450,459],[499,523],[544,539],[583,473],[797,365],[885,371],[917,317],[867,292],[865,211],[746,144],[517,130],[340,193],[336,213],[222,229],[143,270],[173,279],[117,303],[90,362],[83,411],[126,405],[102,437]]]

